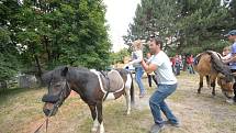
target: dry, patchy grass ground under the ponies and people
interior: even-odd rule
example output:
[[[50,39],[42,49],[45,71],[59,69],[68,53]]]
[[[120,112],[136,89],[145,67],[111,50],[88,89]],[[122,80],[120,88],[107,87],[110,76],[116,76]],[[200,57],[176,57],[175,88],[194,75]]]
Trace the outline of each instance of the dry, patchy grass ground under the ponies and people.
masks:
[[[181,120],[179,129],[167,126],[162,133],[235,133],[236,106],[227,104],[220,89],[212,98],[211,90],[196,95],[198,76],[182,73],[177,91],[167,99],[173,113]],[[147,79],[144,79],[147,88]],[[135,88],[136,85],[135,85]],[[148,107],[149,95],[138,99],[131,115],[125,114],[124,98],[104,103],[106,133],[147,133],[153,124]],[[10,89],[0,93],[0,133],[29,133],[44,121],[42,96],[46,89]],[[136,89],[136,95],[138,90]],[[88,106],[79,97],[68,98],[56,117],[49,120],[49,133],[89,133],[92,120]],[[45,130],[43,128],[43,130]],[[43,131],[42,131],[43,132]]]

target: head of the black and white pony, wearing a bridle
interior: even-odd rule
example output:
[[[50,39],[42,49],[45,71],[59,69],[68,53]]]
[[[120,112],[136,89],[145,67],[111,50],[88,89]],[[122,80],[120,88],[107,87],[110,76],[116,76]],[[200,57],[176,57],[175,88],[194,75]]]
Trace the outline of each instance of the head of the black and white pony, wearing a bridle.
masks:
[[[45,102],[43,111],[47,117],[56,114],[71,91],[67,80],[68,70],[68,67],[59,67],[43,75],[43,80],[48,86],[47,95],[42,98]]]

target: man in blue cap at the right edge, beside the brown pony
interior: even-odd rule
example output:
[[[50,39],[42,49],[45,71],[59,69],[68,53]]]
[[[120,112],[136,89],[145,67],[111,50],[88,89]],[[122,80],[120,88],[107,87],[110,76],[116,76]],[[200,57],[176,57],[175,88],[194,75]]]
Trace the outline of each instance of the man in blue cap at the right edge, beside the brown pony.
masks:
[[[229,68],[232,73],[236,73],[236,30],[232,30],[225,36],[228,37],[228,41],[233,43],[233,45],[232,45],[232,52],[229,57],[224,59],[223,62],[225,64],[229,64]],[[235,95],[234,101],[236,102],[236,84],[234,84],[234,95]]]

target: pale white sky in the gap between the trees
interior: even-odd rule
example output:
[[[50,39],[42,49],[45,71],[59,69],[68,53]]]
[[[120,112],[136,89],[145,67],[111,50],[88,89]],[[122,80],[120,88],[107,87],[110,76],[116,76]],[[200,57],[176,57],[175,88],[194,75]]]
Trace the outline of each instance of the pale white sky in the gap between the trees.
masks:
[[[104,0],[106,5],[105,19],[110,26],[109,35],[113,44],[113,52],[127,47],[122,36],[127,34],[128,24],[133,22],[139,2],[141,0]]]

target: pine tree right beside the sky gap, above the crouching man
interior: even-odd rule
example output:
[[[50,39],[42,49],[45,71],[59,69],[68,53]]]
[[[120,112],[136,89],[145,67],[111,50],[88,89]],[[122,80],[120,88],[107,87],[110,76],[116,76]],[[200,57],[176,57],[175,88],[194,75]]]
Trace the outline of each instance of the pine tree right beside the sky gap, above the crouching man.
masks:
[[[177,36],[176,21],[179,19],[181,9],[173,0],[142,0],[137,5],[134,23],[130,24],[130,30],[124,41],[131,42],[137,38],[147,40],[151,35],[158,35],[164,41]],[[166,46],[169,47],[170,44]]]

